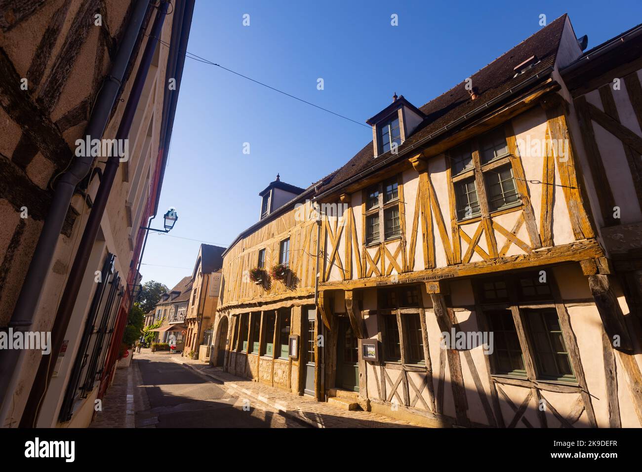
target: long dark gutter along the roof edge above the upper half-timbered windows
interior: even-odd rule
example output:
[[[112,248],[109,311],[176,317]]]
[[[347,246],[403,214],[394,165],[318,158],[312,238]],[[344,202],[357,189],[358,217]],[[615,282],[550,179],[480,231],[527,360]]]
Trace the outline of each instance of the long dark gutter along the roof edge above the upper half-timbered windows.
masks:
[[[507,91],[499,94],[498,96],[496,96],[492,100],[489,100],[486,103],[484,103],[483,105],[480,105],[480,107],[477,107],[473,111],[471,111],[471,112],[469,112],[469,113],[467,113],[467,114],[465,114],[463,116],[460,116],[459,118],[454,119],[453,121],[451,121],[450,123],[448,123],[444,127],[438,129],[437,131],[429,134],[426,137],[423,137],[422,139],[417,141],[417,143],[414,143],[410,147],[405,148],[400,153],[394,154],[394,155],[390,155],[389,157],[387,157],[383,161],[379,162],[378,164],[376,164],[376,165],[374,165],[374,166],[372,166],[372,167],[370,167],[370,168],[368,168],[366,170],[361,171],[360,173],[358,173],[357,175],[352,176],[348,180],[344,180],[343,182],[340,182],[339,184],[336,184],[336,186],[334,186],[334,187],[331,187],[331,188],[327,189],[326,191],[324,191],[320,195],[317,195],[316,197],[314,197],[312,200],[313,201],[320,200],[320,199],[326,197],[327,195],[330,195],[331,193],[334,193],[334,192],[342,189],[343,187],[351,184],[355,180],[361,179],[365,175],[368,175],[369,173],[372,173],[372,172],[374,172],[376,170],[379,170],[380,168],[383,168],[384,166],[386,166],[386,164],[389,164],[390,162],[395,161],[397,159],[401,159],[404,155],[409,154],[413,149],[419,148],[420,146],[425,146],[425,144],[428,143],[428,141],[432,141],[433,139],[445,134],[447,131],[452,131],[453,128],[457,127],[458,125],[461,125],[462,123],[464,123],[465,121],[473,118],[474,116],[479,115],[480,113],[484,112],[485,110],[490,109],[490,107],[496,105],[497,103],[499,103],[499,101],[504,100],[505,98],[508,98],[509,96],[515,94],[516,92],[519,92],[519,91],[522,91],[522,90],[526,89],[526,87],[528,87],[528,86],[532,85],[533,83],[537,82],[537,80],[541,79],[542,77],[548,77],[548,75],[553,71],[553,69],[555,69],[555,66],[546,67],[545,69],[543,69],[539,73],[535,74],[534,76],[531,76],[531,77],[527,78],[523,82],[518,83],[515,87],[512,87],[512,88],[508,89]]]

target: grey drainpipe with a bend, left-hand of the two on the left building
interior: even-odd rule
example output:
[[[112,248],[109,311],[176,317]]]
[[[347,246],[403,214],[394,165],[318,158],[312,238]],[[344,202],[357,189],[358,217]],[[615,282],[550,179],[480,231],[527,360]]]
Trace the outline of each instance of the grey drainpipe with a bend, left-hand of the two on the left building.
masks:
[[[110,73],[105,76],[105,82],[103,82],[103,86],[98,92],[89,123],[85,128],[84,135],[89,135],[92,139],[101,138],[105,132],[112,108],[121,90],[125,71],[130,63],[141,26],[147,16],[148,9],[151,11],[151,8],[152,6],[149,5],[148,0],[137,0],[132,10],[121,46],[118,48]],[[67,216],[71,198],[74,195],[74,189],[89,173],[94,161],[91,156],[73,157],[73,159],[74,162],[71,169],[65,172],[56,183],[56,190],[49,213],[42,226],[12,319],[8,324],[8,327],[13,328],[14,332],[30,331],[35,310],[42,295],[42,287],[47,275],[49,275],[51,260],[56,250],[58,238],[60,238],[60,231],[62,231],[62,225]],[[0,398],[2,399],[0,419],[3,421],[0,424],[4,424],[4,420],[12,407],[13,398],[7,398],[7,392],[15,391],[18,381],[17,372],[20,371],[22,363],[24,363],[24,351],[7,351],[2,356],[2,361],[0,361]]]

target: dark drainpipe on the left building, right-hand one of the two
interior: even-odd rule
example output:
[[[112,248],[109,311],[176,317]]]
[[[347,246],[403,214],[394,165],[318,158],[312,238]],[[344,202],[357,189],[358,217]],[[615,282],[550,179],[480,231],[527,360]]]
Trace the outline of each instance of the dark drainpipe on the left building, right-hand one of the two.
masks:
[[[123,111],[123,117],[121,118],[116,132],[117,140],[127,139],[129,136],[129,132],[134,121],[134,114],[136,112],[138,102],[140,101],[141,93],[143,92],[147,73],[150,69],[150,65],[152,64],[154,51],[157,48],[158,39],[160,38],[165,17],[167,16],[167,10],[168,2],[163,0],[158,7],[158,11],[152,25],[152,31],[150,31],[150,37],[147,40],[147,44],[143,51],[143,57],[141,58],[141,63],[136,71],[132,91],[127,99],[127,104]],[[78,246],[78,250],[76,250],[76,258],[74,258],[74,263],[69,272],[65,290],[60,299],[60,304],[58,305],[58,311],[51,331],[52,346],[51,354],[49,354],[51,357],[47,358],[46,356],[42,356],[42,358],[40,358],[40,367],[36,378],[33,381],[31,393],[21,419],[21,426],[23,427],[30,427],[36,421],[40,399],[46,392],[49,378],[51,377],[51,373],[53,372],[56,364],[55,362],[49,362],[49,360],[55,361],[60,353],[60,348],[62,347],[62,342],[64,340],[65,333],[67,332],[67,326],[69,326],[69,320],[71,319],[71,313],[74,305],[76,304],[76,297],[78,297],[80,284],[83,281],[83,276],[87,269],[87,263],[89,263],[89,257],[91,256],[91,250],[96,242],[96,236],[98,236],[98,231],[100,230],[100,222],[103,218],[103,214],[105,213],[107,200],[118,171],[120,164],[119,159],[118,155],[110,156],[107,159],[107,165],[103,170],[103,177],[100,180],[100,186],[98,187],[98,192],[96,193],[91,213],[89,213],[87,225],[85,225],[85,231],[83,231],[80,245]]]

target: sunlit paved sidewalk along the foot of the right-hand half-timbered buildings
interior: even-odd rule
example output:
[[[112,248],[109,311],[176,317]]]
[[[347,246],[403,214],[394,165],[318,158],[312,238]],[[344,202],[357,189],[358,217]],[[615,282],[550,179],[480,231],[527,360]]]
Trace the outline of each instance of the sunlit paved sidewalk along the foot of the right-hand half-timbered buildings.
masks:
[[[291,392],[275,389],[269,385],[223,372],[220,367],[211,367],[199,360],[183,358],[172,354],[174,362],[182,364],[187,369],[193,369],[209,381],[223,384],[241,398],[254,399],[265,403],[279,413],[296,419],[315,428],[421,428],[419,424],[408,423],[388,416],[364,411],[347,411],[315,401]]]

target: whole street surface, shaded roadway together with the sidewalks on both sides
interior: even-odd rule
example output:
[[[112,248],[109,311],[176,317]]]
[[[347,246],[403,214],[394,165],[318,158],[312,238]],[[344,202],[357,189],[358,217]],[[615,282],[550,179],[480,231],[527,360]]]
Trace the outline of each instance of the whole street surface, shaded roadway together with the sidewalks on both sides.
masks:
[[[222,372],[178,354],[134,354],[118,369],[92,428],[399,428],[415,425],[345,411]]]

